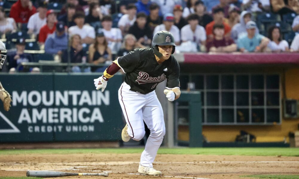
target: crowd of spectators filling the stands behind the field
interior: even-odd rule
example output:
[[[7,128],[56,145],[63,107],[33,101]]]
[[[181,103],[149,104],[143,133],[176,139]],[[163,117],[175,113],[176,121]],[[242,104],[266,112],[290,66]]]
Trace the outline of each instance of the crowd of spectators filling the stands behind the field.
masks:
[[[11,72],[38,61],[29,41],[60,62],[103,64],[74,72],[103,72],[161,30],[176,53],[298,52],[298,13],[298,0],[0,0],[0,35]]]

